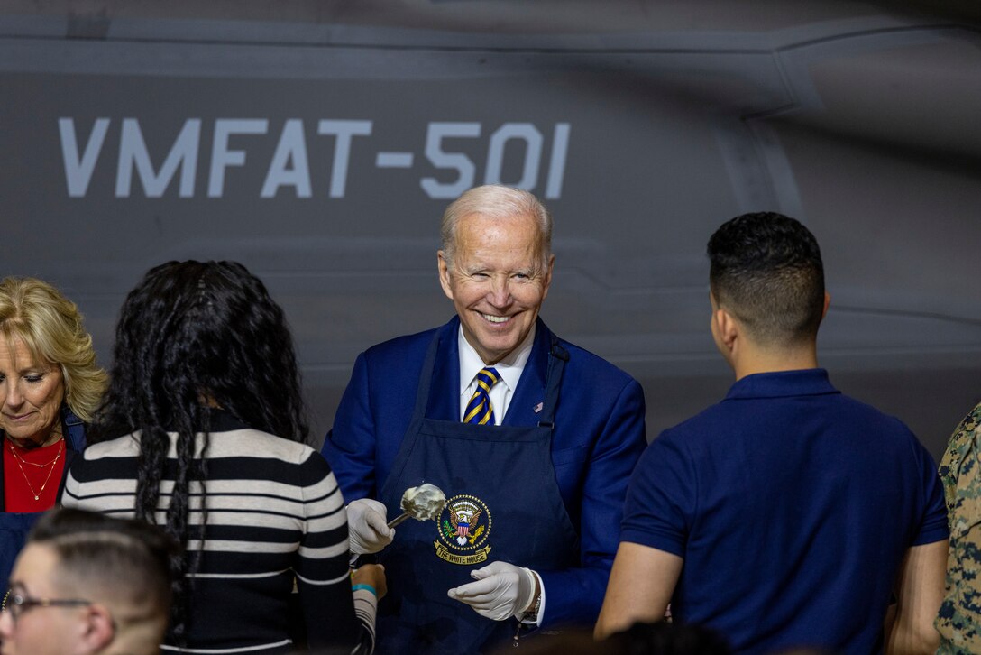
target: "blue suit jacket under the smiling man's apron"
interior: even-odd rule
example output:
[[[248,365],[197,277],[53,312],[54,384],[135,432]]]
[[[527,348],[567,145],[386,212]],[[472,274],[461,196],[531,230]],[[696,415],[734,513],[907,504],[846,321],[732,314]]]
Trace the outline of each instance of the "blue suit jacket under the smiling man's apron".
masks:
[[[377,498],[415,407],[426,350],[439,351],[427,416],[460,419],[459,319],[399,337],[358,355],[323,453],[344,498]],[[535,344],[503,425],[537,425],[551,333],[539,319]],[[539,571],[545,588],[542,627],[592,625],[619,543],[630,473],[646,446],[644,392],[609,362],[571,344],[562,376],[551,461],[566,511],[579,531],[580,566]],[[534,484],[534,480],[526,483]]]

